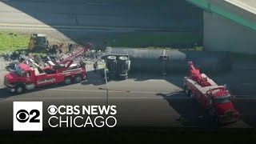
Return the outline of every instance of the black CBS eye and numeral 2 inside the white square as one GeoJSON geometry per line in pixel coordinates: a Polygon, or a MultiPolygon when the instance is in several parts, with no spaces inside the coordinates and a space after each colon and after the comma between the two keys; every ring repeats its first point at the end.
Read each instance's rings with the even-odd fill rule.
{"type": "Polygon", "coordinates": [[[40,119],[38,119],[39,115],[39,110],[31,110],[30,113],[28,113],[26,110],[18,110],[16,118],[18,122],[27,122],[29,119],[29,122],[40,122],[40,119]],[[30,118],[30,115],[32,118],[30,118]]]}

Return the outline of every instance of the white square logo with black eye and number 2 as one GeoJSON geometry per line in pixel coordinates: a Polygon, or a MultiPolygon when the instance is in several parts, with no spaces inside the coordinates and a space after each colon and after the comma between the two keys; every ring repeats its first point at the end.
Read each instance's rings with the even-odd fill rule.
{"type": "Polygon", "coordinates": [[[42,131],[42,102],[14,102],[14,131],[42,131]]]}

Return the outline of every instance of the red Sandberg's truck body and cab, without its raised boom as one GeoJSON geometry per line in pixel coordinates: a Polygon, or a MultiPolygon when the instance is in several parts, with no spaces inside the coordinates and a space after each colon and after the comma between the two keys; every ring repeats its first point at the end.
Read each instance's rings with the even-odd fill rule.
{"type": "Polygon", "coordinates": [[[15,66],[14,71],[5,75],[4,85],[11,92],[18,94],[23,90],[32,90],[38,86],[46,86],[52,83],[66,82],[70,84],[72,79],[74,82],[80,82],[86,77],[85,66],[72,64],[64,69],[58,69],[59,66],[48,67],[30,67],[24,63],[15,66]]]}

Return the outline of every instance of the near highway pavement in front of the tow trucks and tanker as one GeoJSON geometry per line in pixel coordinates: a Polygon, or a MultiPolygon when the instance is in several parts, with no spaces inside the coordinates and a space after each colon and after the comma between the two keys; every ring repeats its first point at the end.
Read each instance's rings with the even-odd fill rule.
{"type": "MultiPolygon", "coordinates": [[[[89,72],[86,81],[70,86],[47,86],[25,94],[12,95],[1,89],[0,128],[12,127],[12,102],[42,101],[44,109],[59,105],[106,105],[106,84],[99,74],[89,72]]],[[[151,77],[154,78],[154,77],[151,77]]],[[[154,79],[130,78],[109,82],[109,105],[117,106],[118,126],[174,126],[174,127],[254,127],[256,98],[236,95],[236,108],[241,114],[239,122],[216,125],[209,114],[192,102],[182,90],[182,76],[154,79]]],[[[46,111],[44,111],[45,115],[46,111]]],[[[48,114],[49,115],[49,114],[48,114]]],[[[44,117],[46,121],[48,116],[44,117]]],[[[47,127],[47,126],[46,126],[47,127]]]]}

